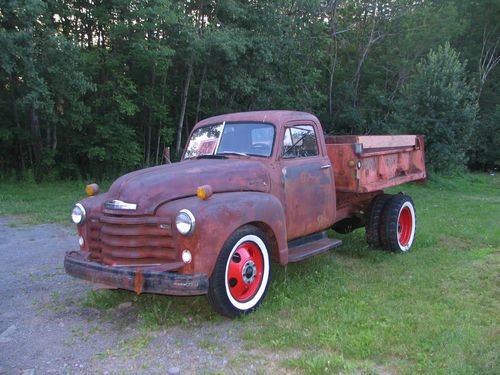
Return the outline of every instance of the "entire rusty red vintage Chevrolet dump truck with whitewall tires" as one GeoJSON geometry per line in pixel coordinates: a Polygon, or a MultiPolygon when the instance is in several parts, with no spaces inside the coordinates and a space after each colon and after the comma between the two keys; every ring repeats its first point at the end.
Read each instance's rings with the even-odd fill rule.
{"type": "Polygon", "coordinates": [[[426,178],[421,136],[324,136],[304,112],[226,114],[195,125],[180,162],[86,188],[71,213],[80,249],[68,274],[136,293],[206,294],[219,313],[255,310],[271,265],[341,245],[327,230],[366,228],[407,252],[416,215],[384,189],[426,178]]]}

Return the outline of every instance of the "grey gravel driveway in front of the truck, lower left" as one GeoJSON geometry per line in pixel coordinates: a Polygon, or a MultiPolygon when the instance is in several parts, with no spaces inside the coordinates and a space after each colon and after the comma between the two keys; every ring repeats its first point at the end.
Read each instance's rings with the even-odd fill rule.
{"type": "Polygon", "coordinates": [[[141,341],[145,333],[130,303],[112,311],[129,317],[125,324],[85,307],[95,287],[63,269],[65,251],[77,247],[72,228],[0,217],[0,374],[280,371],[277,354],[244,349],[238,335],[244,321],[168,327],[141,341]]]}

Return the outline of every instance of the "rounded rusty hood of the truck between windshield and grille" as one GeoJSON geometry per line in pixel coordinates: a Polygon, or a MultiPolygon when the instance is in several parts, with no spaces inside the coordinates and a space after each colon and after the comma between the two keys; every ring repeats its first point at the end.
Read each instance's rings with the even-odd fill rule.
{"type": "Polygon", "coordinates": [[[107,200],[137,204],[136,210],[112,210],[121,215],[153,214],[166,202],[196,195],[196,189],[201,185],[212,186],[214,193],[270,191],[269,175],[261,162],[200,159],[128,173],[111,185],[107,200]]]}

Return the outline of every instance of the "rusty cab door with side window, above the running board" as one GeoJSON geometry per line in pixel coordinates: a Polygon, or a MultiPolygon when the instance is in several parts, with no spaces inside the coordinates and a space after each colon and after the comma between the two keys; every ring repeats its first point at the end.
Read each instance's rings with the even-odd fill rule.
{"type": "Polygon", "coordinates": [[[324,152],[318,144],[315,125],[285,126],[280,162],[288,240],[326,229],[333,223],[333,168],[324,152]]]}

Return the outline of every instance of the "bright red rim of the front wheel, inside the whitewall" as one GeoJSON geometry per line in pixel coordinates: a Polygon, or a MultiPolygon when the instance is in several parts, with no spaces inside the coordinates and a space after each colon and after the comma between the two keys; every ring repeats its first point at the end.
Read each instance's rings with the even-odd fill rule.
{"type": "Polygon", "coordinates": [[[251,299],[262,282],[264,259],[259,247],[253,242],[244,242],[229,260],[227,285],[238,302],[251,299]]]}

